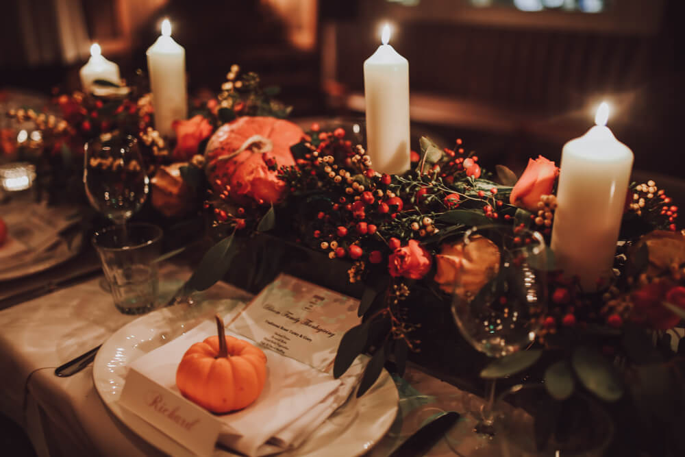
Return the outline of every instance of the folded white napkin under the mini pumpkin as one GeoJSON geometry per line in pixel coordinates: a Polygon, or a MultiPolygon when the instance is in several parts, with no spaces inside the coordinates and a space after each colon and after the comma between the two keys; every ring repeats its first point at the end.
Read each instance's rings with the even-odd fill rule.
{"type": "MultiPolygon", "coordinates": [[[[215,333],[216,324],[206,321],[139,358],[132,367],[181,395],[175,376],[183,354],[193,343],[215,333]]],[[[226,333],[250,341],[239,334],[226,333]]],[[[274,454],[301,444],[345,402],[365,365],[365,360],[358,359],[343,377],[336,380],[330,373],[270,349],[262,350],[267,359],[264,390],[244,410],[219,416],[223,422],[219,443],[247,456],[274,454]]]]}

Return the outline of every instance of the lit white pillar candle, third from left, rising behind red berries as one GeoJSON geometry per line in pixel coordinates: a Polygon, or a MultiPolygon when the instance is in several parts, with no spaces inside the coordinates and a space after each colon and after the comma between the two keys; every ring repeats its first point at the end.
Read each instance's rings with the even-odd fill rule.
{"type": "Polygon", "coordinates": [[[388,45],[390,27],[383,27],[383,44],[364,62],[366,151],[379,173],[409,169],[409,62],[388,45]]]}

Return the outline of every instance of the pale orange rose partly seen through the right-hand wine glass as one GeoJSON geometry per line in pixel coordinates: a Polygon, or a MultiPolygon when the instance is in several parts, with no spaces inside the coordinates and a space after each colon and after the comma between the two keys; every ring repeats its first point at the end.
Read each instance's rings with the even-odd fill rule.
{"type": "Polygon", "coordinates": [[[438,271],[433,280],[446,293],[475,295],[499,271],[499,249],[484,236],[471,236],[467,248],[464,241],[443,243],[435,262],[438,271]]]}

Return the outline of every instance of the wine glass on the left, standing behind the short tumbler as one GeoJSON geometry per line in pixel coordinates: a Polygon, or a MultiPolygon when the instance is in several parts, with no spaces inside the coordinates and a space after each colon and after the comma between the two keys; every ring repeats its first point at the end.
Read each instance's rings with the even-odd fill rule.
{"type": "Polygon", "coordinates": [[[102,134],[86,143],[85,152],[88,201],[125,237],[126,221],[140,210],[149,193],[138,142],[130,135],[102,134]]]}

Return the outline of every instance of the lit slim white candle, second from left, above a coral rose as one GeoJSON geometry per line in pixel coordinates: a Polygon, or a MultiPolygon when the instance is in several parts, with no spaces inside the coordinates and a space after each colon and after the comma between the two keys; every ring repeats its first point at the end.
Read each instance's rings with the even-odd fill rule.
{"type": "Polygon", "coordinates": [[[171,38],[169,19],[162,21],[162,35],[147,49],[155,128],[162,136],[173,136],[171,123],[188,117],[186,50],[171,38]]]}

